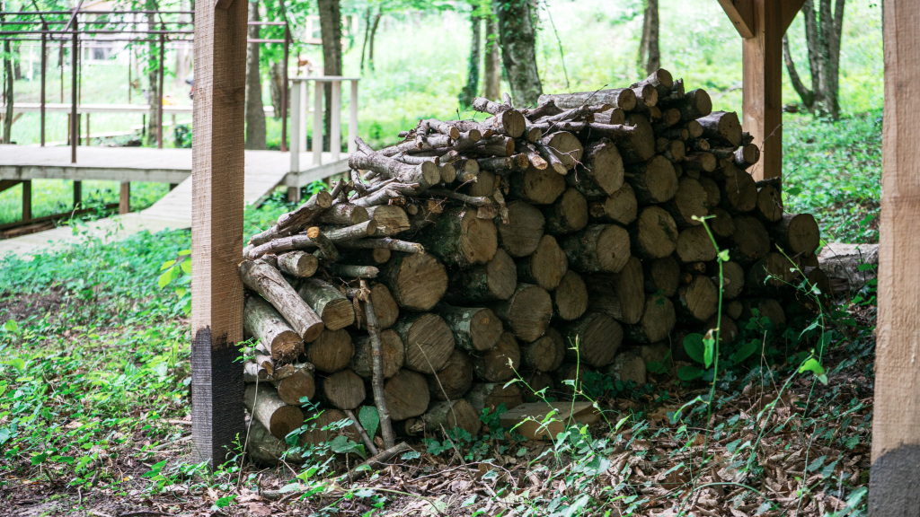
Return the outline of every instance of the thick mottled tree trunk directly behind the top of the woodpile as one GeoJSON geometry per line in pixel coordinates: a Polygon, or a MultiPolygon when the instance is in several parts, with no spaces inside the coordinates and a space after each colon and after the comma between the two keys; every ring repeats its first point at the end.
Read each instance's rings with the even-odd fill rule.
{"type": "Polygon", "coordinates": [[[495,0],[499,19],[501,61],[504,63],[512,98],[519,108],[534,106],[543,93],[536,69],[534,13],[527,0],[495,0]]]}

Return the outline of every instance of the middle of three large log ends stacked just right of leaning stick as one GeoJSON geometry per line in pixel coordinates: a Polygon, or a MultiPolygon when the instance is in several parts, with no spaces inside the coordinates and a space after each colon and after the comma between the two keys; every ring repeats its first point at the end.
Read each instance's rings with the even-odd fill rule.
{"type": "Polygon", "coordinates": [[[441,316],[431,313],[400,316],[393,328],[406,348],[406,368],[416,372],[441,370],[454,351],[454,334],[441,316]]]}

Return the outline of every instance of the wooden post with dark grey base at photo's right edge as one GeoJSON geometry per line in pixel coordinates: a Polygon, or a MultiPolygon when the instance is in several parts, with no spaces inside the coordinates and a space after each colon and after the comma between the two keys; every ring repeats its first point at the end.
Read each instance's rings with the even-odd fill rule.
{"type": "Polygon", "coordinates": [[[870,517],[920,516],[920,10],[885,0],[879,321],[870,517]]]}

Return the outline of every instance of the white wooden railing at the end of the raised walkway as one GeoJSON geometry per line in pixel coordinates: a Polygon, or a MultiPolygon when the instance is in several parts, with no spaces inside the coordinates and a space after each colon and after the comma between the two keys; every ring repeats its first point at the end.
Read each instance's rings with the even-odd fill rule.
{"type": "Polygon", "coordinates": [[[354,152],[354,139],[358,136],[358,81],[359,77],[339,75],[315,75],[292,77],[291,81],[291,172],[300,172],[300,151],[306,150],[306,120],[308,113],[307,84],[313,82],[313,165],[323,165],[323,86],[330,83],[332,95],[326,107],[329,113],[329,157],[331,162],[339,161],[341,155],[341,95],[342,82],[351,81],[349,98],[348,152],[354,152]]]}

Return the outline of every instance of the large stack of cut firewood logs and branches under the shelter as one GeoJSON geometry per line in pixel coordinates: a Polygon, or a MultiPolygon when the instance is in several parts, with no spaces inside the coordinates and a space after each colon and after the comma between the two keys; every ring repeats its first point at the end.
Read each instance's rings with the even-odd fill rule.
{"type": "Polygon", "coordinates": [[[730,253],[724,339],[755,310],[813,310],[799,271],[826,290],[814,218],[755,183],[758,148],[705,90],[659,70],[473,107],[478,120],[420,121],[379,151],[358,142],[350,178],[250,240],[247,408],[270,434],[302,424],[303,397],[328,420],[384,403],[397,433],[476,434],[483,408],[522,402],[517,376],[644,383],[646,362],[716,326],[703,216],[730,253]]]}

